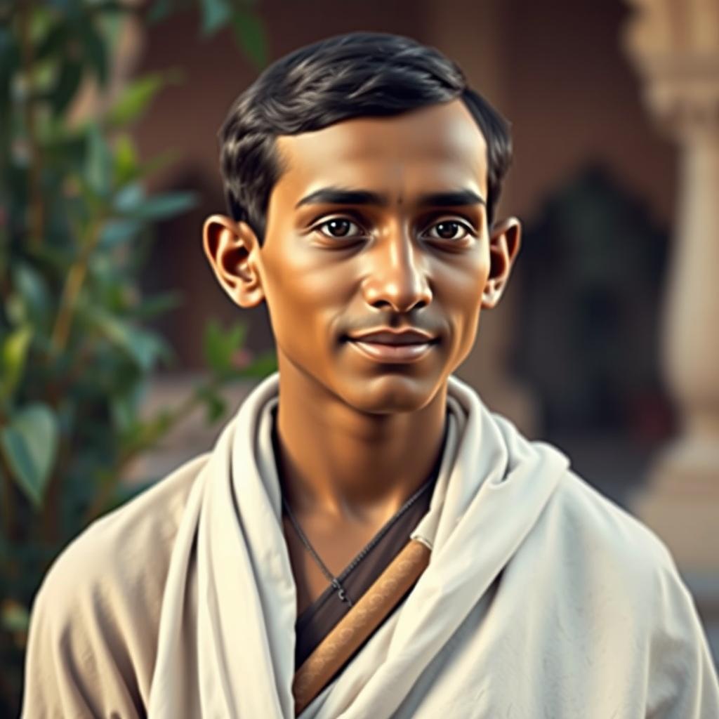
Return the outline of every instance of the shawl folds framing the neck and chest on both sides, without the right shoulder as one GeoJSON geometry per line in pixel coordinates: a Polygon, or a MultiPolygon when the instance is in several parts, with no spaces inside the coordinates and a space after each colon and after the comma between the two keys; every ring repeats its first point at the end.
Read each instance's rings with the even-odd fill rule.
{"type": "MultiPolygon", "coordinates": [[[[270,444],[277,402],[273,375],[244,401],[193,487],[162,604],[151,716],[183,716],[170,690],[178,677],[198,682],[203,716],[293,716],[296,590],[270,444]],[[187,581],[193,564],[196,587],[187,581]],[[184,611],[184,597],[192,591],[195,626],[184,611]],[[193,675],[194,662],[191,672],[183,665],[184,638],[194,632],[193,675]]],[[[447,421],[430,510],[411,535],[433,548],[429,567],[393,620],[380,628],[386,644],[375,641],[364,649],[307,716],[393,711],[390,700],[399,705],[441,651],[531,531],[567,470],[562,454],[520,441],[455,377],[449,381],[447,421]],[[513,511],[502,510],[512,505],[513,511]]]]}

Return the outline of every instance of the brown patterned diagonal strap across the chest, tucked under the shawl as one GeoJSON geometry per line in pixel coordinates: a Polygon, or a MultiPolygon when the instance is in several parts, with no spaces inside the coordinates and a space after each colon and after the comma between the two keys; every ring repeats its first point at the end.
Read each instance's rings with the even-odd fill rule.
{"type": "Polygon", "coordinates": [[[429,547],[421,541],[408,541],[377,581],[316,646],[293,680],[295,716],[319,695],[414,586],[429,564],[430,554],[429,547]]]}

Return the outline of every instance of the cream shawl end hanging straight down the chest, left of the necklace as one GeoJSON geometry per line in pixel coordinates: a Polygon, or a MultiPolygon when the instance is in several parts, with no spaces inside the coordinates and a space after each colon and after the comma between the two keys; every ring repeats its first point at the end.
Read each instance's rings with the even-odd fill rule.
{"type": "Polygon", "coordinates": [[[265,380],[247,398],[193,487],[199,506],[183,516],[170,561],[150,716],[186,716],[171,688],[178,677],[196,682],[203,717],[293,716],[296,590],[270,461],[276,385],[265,380]],[[185,577],[195,563],[193,586],[185,577]],[[178,602],[193,591],[196,618],[178,602]],[[197,674],[185,666],[193,633],[197,674]]]}

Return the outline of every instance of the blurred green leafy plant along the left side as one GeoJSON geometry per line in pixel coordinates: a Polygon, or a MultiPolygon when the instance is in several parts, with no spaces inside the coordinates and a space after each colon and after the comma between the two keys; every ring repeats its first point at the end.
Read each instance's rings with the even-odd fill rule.
{"type": "MultiPolygon", "coordinates": [[[[183,6],[188,6],[187,3],[183,6]]],[[[173,9],[115,0],[0,0],[0,715],[17,715],[32,597],[63,546],[129,497],[127,463],[196,408],[224,414],[227,383],[275,369],[272,354],[237,365],[244,326],[209,324],[209,372],[178,406],[142,416],[151,373],[173,359],[150,322],[178,304],[145,297],[139,273],[152,227],[196,198],[148,196],[170,157],[143,160],[129,128],[177,72],[137,78],[99,116],[72,121],[91,78],[106,87],[128,13],[173,9]]],[[[201,3],[203,31],[232,24],[264,61],[247,6],[201,3]]]]}

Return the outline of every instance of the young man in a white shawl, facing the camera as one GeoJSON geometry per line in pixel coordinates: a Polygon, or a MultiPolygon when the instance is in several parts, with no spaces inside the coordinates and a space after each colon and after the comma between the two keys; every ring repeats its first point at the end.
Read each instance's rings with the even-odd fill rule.
{"type": "Polygon", "coordinates": [[[206,255],[267,303],[279,372],[58,559],[24,716],[719,716],[664,546],[452,376],[520,242],[507,126],[459,68],[336,37],[220,138],[206,255]]]}

